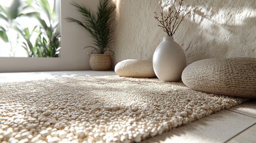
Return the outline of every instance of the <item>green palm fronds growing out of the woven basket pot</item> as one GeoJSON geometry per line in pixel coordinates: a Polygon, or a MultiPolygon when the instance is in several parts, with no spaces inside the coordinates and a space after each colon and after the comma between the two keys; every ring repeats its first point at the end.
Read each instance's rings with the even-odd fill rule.
{"type": "Polygon", "coordinates": [[[113,41],[110,38],[110,34],[113,32],[111,22],[112,14],[116,7],[109,3],[109,0],[100,0],[97,13],[94,14],[89,8],[73,1],[70,4],[76,7],[78,12],[81,13],[83,16],[82,21],[71,17],[66,18],[67,21],[79,24],[90,33],[90,36],[94,39],[94,45],[97,46],[97,50],[95,51],[98,54],[104,54],[104,52],[110,51],[108,48],[113,41]]]}

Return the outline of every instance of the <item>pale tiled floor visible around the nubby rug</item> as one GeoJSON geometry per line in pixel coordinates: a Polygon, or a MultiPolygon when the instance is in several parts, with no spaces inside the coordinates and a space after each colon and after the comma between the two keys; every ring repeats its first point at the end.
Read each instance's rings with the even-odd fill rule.
{"type": "MultiPolygon", "coordinates": [[[[114,71],[51,71],[0,73],[1,82],[53,79],[72,76],[116,75],[114,71]]],[[[147,139],[143,143],[163,142],[255,142],[256,100],[223,110],[186,126],[147,139]]]]}

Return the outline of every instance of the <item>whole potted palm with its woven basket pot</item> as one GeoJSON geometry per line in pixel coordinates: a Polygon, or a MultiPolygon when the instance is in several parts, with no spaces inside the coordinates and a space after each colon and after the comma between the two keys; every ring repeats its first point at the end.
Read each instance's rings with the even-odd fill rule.
{"type": "Polygon", "coordinates": [[[113,32],[113,12],[116,6],[110,4],[110,0],[100,0],[98,10],[93,12],[90,8],[78,4],[77,2],[73,1],[70,4],[77,8],[83,20],[67,17],[67,21],[75,22],[84,27],[94,39],[94,46],[85,46],[85,48],[92,48],[89,61],[91,69],[109,70],[112,65],[112,60],[110,54],[105,54],[105,52],[109,51],[114,54],[109,47],[110,43],[113,41],[110,34],[113,32]],[[94,54],[95,52],[96,54],[94,54]]]}

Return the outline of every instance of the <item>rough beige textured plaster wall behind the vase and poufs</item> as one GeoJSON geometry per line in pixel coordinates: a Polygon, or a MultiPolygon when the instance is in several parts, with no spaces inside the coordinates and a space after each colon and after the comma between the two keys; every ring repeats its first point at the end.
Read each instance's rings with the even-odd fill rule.
{"type": "MultiPolygon", "coordinates": [[[[173,0],[116,0],[115,64],[136,58],[152,60],[165,33],[155,20],[163,2],[173,0]]],[[[174,40],[181,45],[187,64],[205,58],[256,57],[256,1],[184,0],[191,13],[174,40]]]]}

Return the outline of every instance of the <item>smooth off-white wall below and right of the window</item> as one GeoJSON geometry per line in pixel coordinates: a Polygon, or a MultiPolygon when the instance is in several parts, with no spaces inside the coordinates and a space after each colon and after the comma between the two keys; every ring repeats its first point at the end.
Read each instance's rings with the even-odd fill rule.
{"type": "MultiPolygon", "coordinates": [[[[91,45],[92,39],[85,29],[76,23],[67,23],[64,18],[80,18],[79,13],[69,3],[61,0],[61,57],[60,58],[0,58],[0,72],[14,71],[54,71],[54,70],[89,70],[89,57],[83,51],[84,46],[91,45]]],[[[76,0],[93,10],[98,1],[76,0]]],[[[90,49],[88,49],[90,52],[90,49]]]]}

